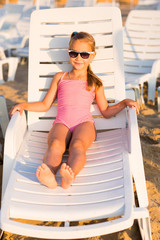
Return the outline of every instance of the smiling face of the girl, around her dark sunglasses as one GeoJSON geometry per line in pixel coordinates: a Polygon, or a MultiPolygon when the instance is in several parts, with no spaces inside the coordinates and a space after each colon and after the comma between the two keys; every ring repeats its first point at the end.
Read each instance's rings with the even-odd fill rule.
{"type": "MultiPolygon", "coordinates": [[[[82,40],[78,39],[74,41],[70,46],[70,50],[74,50],[77,52],[92,52],[91,46],[88,44],[87,41],[83,39],[82,40]]],[[[75,58],[70,57],[70,63],[72,64],[74,69],[77,69],[77,70],[87,69],[88,65],[94,59],[94,57],[95,57],[95,52],[90,54],[89,58],[87,59],[82,58],[80,54],[78,54],[78,56],[75,58]]]]}

